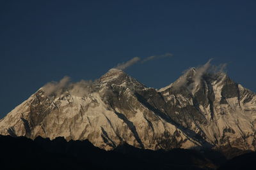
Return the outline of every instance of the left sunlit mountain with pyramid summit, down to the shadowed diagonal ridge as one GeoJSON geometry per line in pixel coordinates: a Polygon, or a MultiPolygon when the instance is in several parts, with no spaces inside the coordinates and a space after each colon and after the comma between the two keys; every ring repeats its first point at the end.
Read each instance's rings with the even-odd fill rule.
{"type": "Polygon", "coordinates": [[[38,90],[1,120],[1,134],[88,139],[106,150],[124,142],[153,150],[195,145],[136,95],[154,89],[117,69],[104,74],[96,86],[97,92],[83,97],[68,90],[60,96],[47,96],[44,88],[38,90]]]}

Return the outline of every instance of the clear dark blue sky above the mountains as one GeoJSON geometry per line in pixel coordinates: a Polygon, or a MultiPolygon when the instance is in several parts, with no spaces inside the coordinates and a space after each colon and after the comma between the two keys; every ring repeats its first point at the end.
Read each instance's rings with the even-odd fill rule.
{"type": "Polygon", "coordinates": [[[227,63],[256,91],[256,1],[0,2],[0,117],[45,83],[95,80],[132,57],[173,53],[126,72],[164,87],[188,67],[227,63]]]}

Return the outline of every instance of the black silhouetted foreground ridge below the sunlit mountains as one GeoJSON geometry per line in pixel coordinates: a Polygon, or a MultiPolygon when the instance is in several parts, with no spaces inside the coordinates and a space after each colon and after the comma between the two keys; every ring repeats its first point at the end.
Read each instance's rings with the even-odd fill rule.
{"type": "Polygon", "coordinates": [[[105,151],[89,141],[0,136],[1,169],[216,169],[226,161],[212,150],[152,151],[124,144],[105,151]]]}

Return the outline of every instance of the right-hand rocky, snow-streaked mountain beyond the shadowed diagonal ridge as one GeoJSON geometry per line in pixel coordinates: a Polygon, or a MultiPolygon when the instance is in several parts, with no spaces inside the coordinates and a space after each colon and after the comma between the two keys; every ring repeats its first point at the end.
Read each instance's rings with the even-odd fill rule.
{"type": "Polygon", "coordinates": [[[180,78],[159,90],[168,103],[168,115],[212,146],[255,150],[255,94],[224,73],[204,74],[198,83],[195,69],[188,72],[184,87],[175,87],[184,79],[180,78]]]}

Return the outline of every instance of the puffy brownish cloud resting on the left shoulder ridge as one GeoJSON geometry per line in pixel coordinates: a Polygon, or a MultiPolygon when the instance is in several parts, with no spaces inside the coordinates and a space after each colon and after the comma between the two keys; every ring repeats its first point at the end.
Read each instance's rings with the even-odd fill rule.
{"type": "Polygon", "coordinates": [[[63,92],[68,91],[74,96],[88,96],[92,92],[96,92],[97,88],[92,80],[81,80],[78,82],[70,82],[70,77],[64,76],[60,81],[51,81],[44,85],[44,92],[47,96],[60,96],[63,92]]]}

